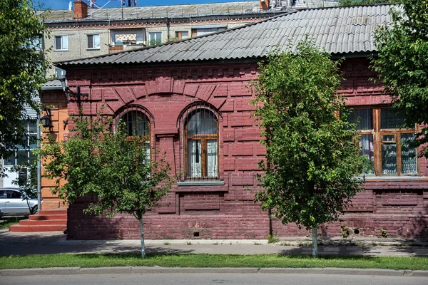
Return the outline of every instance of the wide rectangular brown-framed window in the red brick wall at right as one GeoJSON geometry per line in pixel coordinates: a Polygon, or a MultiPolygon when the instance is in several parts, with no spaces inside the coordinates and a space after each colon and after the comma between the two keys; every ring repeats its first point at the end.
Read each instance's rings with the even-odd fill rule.
{"type": "Polygon", "coordinates": [[[357,123],[364,174],[417,174],[417,149],[409,145],[416,130],[401,128],[403,118],[394,108],[355,109],[349,119],[357,123]]]}

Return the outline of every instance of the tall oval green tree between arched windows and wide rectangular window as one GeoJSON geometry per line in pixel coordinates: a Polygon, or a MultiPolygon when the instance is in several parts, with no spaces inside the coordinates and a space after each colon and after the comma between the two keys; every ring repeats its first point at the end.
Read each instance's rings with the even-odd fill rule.
{"type": "Polygon", "coordinates": [[[267,150],[256,201],[283,224],[312,229],[314,256],[317,229],[339,219],[361,183],[355,125],[336,93],[339,64],[303,41],[293,53],[270,54],[253,86],[267,150]]]}

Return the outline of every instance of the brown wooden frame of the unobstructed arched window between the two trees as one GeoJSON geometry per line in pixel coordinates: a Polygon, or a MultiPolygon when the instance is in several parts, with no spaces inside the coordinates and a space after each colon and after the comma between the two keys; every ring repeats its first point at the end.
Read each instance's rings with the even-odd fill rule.
{"type": "Polygon", "coordinates": [[[185,180],[219,180],[219,170],[220,170],[220,142],[219,142],[219,128],[218,128],[218,117],[213,112],[213,110],[210,110],[209,108],[205,108],[203,105],[193,108],[192,110],[189,110],[188,114],[186,115],[184,119],[184,169],[185,169],[185,180]],[[188,135],[188,121],[190,118],[195,115],[195,113],[198,110],[208,111],[212,113],[213,118],[215,120],[216,130],[217,132],[215,134],[198,134],[198,135],[188,135]],[[200,140],[200,164],[201,164],[201,176],[195,177],[189,175],[188,170],[188,141],[189,140],[200,140]],[[217,175],[214,176],[208,176],[208,167],[207,167],[207,160],[208,160],[208,154],[207,154],[207,141],[208,140],[216,140],[217,141],[217,175]]]}

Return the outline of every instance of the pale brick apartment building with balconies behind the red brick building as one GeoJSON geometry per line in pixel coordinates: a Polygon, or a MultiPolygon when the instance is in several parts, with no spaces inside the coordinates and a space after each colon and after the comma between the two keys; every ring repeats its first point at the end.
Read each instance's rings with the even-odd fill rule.
{"type": "MultiPolygon", "coordinates": [[[[337,0],[269,0],[91,9],[74,1],[70,10],[46,17],[44,47],[52,62],[131,51],[168,41],[215,33],[292,9],[336,6],[337,0]]],[[[56,68],[50,71],[62,73],[56,68]]]]}

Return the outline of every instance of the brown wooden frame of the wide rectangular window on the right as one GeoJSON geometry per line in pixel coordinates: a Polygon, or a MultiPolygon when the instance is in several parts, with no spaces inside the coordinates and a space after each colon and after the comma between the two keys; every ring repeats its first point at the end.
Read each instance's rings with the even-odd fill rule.
{"type": "Polygon", "coordinates": [[[415,128],[381,128],[381,111],[387,109],[387,106],[361,106],[353,108],[358,109],[372,109],[373,112],[373,129],[372,130],[357,130],[358,135],[373,135],[373,149],[374,149],[374,174],[365,174],[367,176],[417,176],[420,173],[419,161],[416,157],[417,173],[402,173],[402,145],[401,135],[406,133],[417,133],[419,127],[415,125],[415,128]],[[383,140],[385,135],[393,135],[393,141],[383,140]],[[382,171],[382,145],[396,145],[397,155],[397,173],[395,174],[384,174],[382,171]]]}

